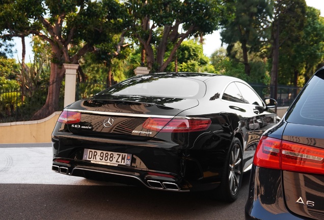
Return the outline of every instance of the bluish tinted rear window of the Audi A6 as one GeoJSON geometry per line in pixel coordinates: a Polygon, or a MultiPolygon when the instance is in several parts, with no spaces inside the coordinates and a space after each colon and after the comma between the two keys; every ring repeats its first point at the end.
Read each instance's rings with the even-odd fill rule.
{"type": "Polygon", "coordinates": [[[291,106],[286,120],[290,123],[324,126],[324,79],[317,74],[291,106]]]}

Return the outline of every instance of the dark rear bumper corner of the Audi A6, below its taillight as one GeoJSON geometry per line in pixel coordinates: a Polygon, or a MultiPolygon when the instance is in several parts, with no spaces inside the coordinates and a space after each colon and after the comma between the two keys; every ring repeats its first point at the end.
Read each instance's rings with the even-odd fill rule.
{"type": "Polygon", "coordinates": [[[302,219],[285,206],[280,170],[252,167],[245,219],[302,219]]]}

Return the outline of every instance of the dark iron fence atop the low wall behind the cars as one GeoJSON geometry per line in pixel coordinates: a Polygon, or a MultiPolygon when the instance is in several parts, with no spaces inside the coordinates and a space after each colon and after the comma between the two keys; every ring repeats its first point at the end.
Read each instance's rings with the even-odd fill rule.
{"type": "MultiPolygon", "coordinates": [[[[271,97],[271,88],[266,85],[250,84],[263,99],[271,97]]],[[[33,115],[45,104],[47,88],[42,87],[33,93],[19,90],[0,90],[0,123],[30,121],[33,115]]],[[[75,100],[87,98],[104,90],[106,84],[93,82],[79,82],[76,85],[75,100]]],[[[301,88],[278,86],[278,106],[289,106],[301,88]]],[[[64,85],[60,93],[60,109],[63,109],[64,85]]]]}

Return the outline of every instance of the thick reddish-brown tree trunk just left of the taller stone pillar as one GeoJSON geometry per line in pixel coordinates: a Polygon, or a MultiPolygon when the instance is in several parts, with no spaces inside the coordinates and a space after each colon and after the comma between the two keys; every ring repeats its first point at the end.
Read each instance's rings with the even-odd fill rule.
{"type": "MultiPolygon", "coordinates": [[[[63,65],[57,63],[50,64],[49,86],[46,102],[32,117],[32,120],[38,120],[49,116],[50,114],[61,111],[59,106],[60,89],[65,73],[63,65]]],[[[63,106],[65,107],[65,106],[63,106]]]]}

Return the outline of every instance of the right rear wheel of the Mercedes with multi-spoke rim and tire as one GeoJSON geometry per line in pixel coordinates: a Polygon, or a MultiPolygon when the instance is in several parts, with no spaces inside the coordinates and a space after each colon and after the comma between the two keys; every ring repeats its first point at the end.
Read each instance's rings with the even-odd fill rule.
{"type": "Polygon", "coordinates": [[[239,193],[243,174],[243,152],[241,142],[234,137],[222,173],[220,186],[216,189],[222,201],[234,202],[239,193]]]}

